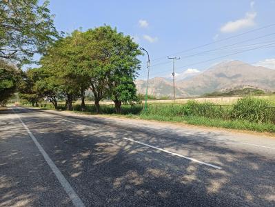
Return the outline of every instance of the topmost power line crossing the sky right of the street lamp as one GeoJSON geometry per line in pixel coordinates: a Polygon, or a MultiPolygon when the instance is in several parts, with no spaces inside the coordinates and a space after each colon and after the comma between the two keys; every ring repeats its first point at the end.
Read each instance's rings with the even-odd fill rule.
{"type": "MultiPolygon", "coordinates": [[[[221,41],[225,41],[225,40],[227,40],[227,39],[232,39],[232,38],[234,38],[234,37],[240,37],[240,36],[242,36],[242,35],[244,35],[244,34],[249,34],[249,33],[252,33],[252,32],[256,32],[256,31],[258,31],[258,30],[263,30],[263,29],[265,29],[265,28],[270,28],[270,27],[272,27],[272,26],[275,26],[275,23],[272,23],[272,24],[269,24],[269,25],[267,25],[267,26],[263,26],[263,27],[261,27],[261,28],[257,28],[257,29],[254,29],[254,30],[249,30],[249,31],[243,32],[243,33],[241,33],[241,34],[236,34],[236,35],[233,35],[233,36],[230,36],[230,37],[226,37],[226,38],[224,38],[224,39],[219,39],[219,40],[217,40],[217,41],[212,41],[211,43],[205,43],[205,44],[203,44],[203,45],[201,45],[201,46],[196,46],[196,47],[194,47],[194,48],[189,48],[189,49],[187,49],[187,50],[183,50],[183,51],[180,51],[180,52],[176,52],[176,53],[170,54],[170,55],[179,55],[179,54],[181,54],[181,53],[183,53],[183,52],[188,52],[188,51],[190,51],[190,50],[195,50],[195,49],[198,49],[198,48],[203,48],[203,47],[205,47],[205,46],[210,46],[210,45],[212,45],[212,44],[214,44],[214,43],[218,43],[218,42],[221,42],[221,41]]],[[[166,57],[167,57],[167,55],[166,55],[165,57],[157,57],[157,58],[155,58],[155,59],[152,59],[152,61],[155,61],[155,60],[158,60],[158,59],[164,59],[164,58],[166,58],[166,57]]]]}

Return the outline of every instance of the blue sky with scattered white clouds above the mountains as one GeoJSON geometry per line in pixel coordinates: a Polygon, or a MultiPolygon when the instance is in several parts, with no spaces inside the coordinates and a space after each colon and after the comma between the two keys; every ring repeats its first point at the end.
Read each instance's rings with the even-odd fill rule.
{"type": "MultiPolygon", "coordinates": [[[[130,35],[150,54],[150,78],[171,77],[169,55],[181,58],[176,77],[230,60],[275,69],[275,0],[51,0],[49,7],[60,31],[108,24],[130,35]]],[[[147,56],[139,59],[145,79],[147,56]]]]}

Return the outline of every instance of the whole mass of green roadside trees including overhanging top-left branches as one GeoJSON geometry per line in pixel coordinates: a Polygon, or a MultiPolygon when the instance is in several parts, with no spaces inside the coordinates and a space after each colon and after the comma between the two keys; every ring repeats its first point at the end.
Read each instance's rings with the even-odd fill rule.
{"type": "MultiPolygon", "coordinates": [[[[7,1],[5,8],[14,8],[14,5],[9,5],[8,2],[14,3],[7,1]]],[[[46,99],[57,108],[58,101],[65,100],[68,110],[72,110],[74,101],[81,99],[81,108],[85,110],[85,91],[90,90],[94,95],[97,112],[100,112],[99,101],[102,99],[114,101],[116,112],[121,111],[122,103],[133,104],[139,101],[134,80],[141,68],[138,57],[142,52],[130,36],[104,25],[85,32],[75,30],[64,37],[55,30],[46,3],[41,7],[37,6],[37,1],[34,0],[19,0],[17,3],[21,3],[21,6],[16,4],[19,5],[18,10],[22,9],[22,5],[30,6],[32,18],[35,15],[37,18],[41,17],[41,11],[47,15],[43,16],[43,25],[39,25],[40,29],[43,28],[41,34],[29,31],[30,34],[24,37],[28,40],[32,36],[35,41],[26,41],[26,46],[22,46],[22,40],[15,43],[14,40],[7,40],[6,48],[2,47],[5,50],[0,52],[5,55],[1,57],[1,99],[8,99],[17,90],[21,98],[32,104],[46,99]],[[41,39],[41,35],[45,35],[45,38],[41,39]],[[14,46],[14,54],[8,51],[11,48],[9,43],[14,46]],[[32,61],[35,52],[41,54],[40,67],[19,70],[23,63],[32,61]],[[14,62],[17,65],[14,65],[14,62]],[[10,89],[2,86],[8,77],[3,74],[11,75],[10,89]]],[[[26,18],[24,22],[29,21],[30,19],[26,18]]],[[[37,25],[30,21],[30,28],[35,30],[37,25]]],[[[26,33],[26,28],[20,27],[18,30],[20,29],[23,34],[26,33]]]]}

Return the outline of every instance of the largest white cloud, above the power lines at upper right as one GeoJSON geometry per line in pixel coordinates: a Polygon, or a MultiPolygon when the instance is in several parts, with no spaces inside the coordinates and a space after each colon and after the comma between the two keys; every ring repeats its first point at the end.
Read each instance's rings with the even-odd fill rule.
{"type": "Polygon", "coordinates": [[[236,32],[243,28],[253,27],[255,25],[254,19],[256,15],[256,12],[247,12],[243,19],[237,19],[236,21],[229,21],[225,23],[225,25],[221,27],[221,32],[230,33],[236,32]]]}

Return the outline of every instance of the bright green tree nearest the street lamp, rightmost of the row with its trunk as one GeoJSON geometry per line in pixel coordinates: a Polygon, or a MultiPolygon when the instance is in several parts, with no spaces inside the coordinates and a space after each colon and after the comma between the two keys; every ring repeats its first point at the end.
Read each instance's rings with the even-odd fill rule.
{"type": "Polygon", "coordinates": [[[120,113],[121,103],[132,104],[139,101],[134,80],[141,68],[137,57],[142,53],[139,45],[134,43],[130,36],[123,36],[122,33],[114,33],[114,36],[114,54],[107,75],[107,92],[114,101],[116,112],[120,113]]]}

